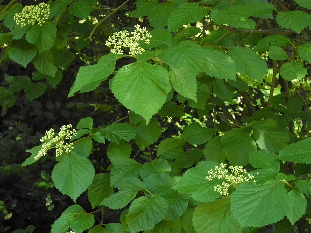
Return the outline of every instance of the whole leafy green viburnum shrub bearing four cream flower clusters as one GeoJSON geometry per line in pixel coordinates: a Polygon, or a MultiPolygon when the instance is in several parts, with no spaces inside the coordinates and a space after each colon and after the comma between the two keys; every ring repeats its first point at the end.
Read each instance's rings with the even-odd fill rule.
{"type": "Polygon", "coordinates": [[[27,150],[22,166],[56,148],[55,187],[74,202],[87,190],[94,209],[69,206],[51,233],[310,228],[309,1],[137,0],[122,13],[132,22],[126,29],[118,28],[122,17],[107,19],[131,9],[129,1],[114,9],[84,0],[40,4],[16,3],[0,15],[9,30],[0,34],[1,59],[32,62],[39,72],[8,79],[1,107],[14,106],[21,90],[32,101],[55,87],[66,68],[59,56],[77,48],[68,57],[84,65],[68,97],[100,96],[106,84],[127,109],[109,125],[84,117],[69,130],[67,122],[27,150]],[[67,44],[74,16],[76,28],[88,21],[94,30],[81,27],[91,34],[67,44]],[[100,50],[94,60],[78,49],[87,38],[100,50]],[[108,144],[101,153],[110,166],[97,174],[94,144],[108,144]],[[106,208],[122,210],[119,222],[104,222],[106,208]]]}

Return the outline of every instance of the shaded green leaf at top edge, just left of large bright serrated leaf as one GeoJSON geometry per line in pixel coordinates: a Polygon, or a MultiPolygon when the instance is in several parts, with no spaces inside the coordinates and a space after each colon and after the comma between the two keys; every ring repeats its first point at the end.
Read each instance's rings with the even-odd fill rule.
{"type": "MultiPolygon", "coordinates": [[[[148,20],[154,29],[162,29],[167,25],[167,20],[173,10],[177,9],[177,4],[174,1],[161,2],[154,7],[148,20]]],[[[153,39],[153,38],[152,38],[153,39]]]]}

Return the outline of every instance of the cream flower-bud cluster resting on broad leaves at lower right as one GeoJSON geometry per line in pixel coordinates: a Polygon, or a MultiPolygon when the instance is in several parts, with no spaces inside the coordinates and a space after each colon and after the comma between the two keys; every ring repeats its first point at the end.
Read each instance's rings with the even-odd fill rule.
{"type": "MultiPolygon", "coordinates": [[[[219,192],[220,195],[228,196],[228,188],[232,185],[234,188],[237,188],[237,185],[244,182],[249,181],[251,179],[254,179],[254,176],[251,176],[248,174],[247,176],[240,175],[240,173],[246,173],[246,170],[243,169],[241,166],[229,166],[229,169],[231,170],[231,173],[229,173],[228,169],[225,168],[224,163],[220,163],[220,166],[215,166],[215,169],[211,169],[207,173],[209,176],[206,176],[205,178],[207,180],[212,180],[213,178],[218,179],[225,179],[227,182],[222,182],[220,185],[214,186],[214,190],[219,192]]],[[[256,183],[256,181],[254,180],[256,183]]]]}

